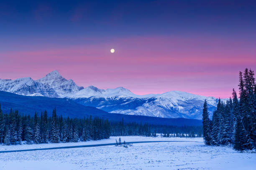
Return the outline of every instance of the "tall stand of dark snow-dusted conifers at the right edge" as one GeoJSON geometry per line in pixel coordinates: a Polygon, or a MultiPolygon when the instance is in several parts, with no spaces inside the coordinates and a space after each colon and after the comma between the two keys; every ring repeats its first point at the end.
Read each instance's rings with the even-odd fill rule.
{"type": "Polygon", "coordinates": [[[218,101],[212,119],[207,101],[203,105],[203,137],[206,145],[233,145],[236,150],[256,148],[256,84],[254,72],[247,68],[239,72],[239,96],[218,101]]]}

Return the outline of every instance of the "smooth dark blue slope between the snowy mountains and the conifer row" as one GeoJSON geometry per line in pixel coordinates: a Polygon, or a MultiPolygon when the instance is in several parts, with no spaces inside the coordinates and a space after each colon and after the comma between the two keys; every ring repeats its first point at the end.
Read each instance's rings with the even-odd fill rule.
{"type": "Polygon", "coordinates": [[[125,122],[148,122],[158,125],[202,125],[201,120],[108,113],[95,107],[80,105],[66,98],[23,96],[4,91],[0,91],[0,104],[3,112],[10,112],[10,108],[12,108],[29,115],[34,115],[35,112],[43,112],[44,110],[51,115],[52,110],[56,107],[57,114],[63,117],[81,118],[92,115],[93,117],[104,117],[111,121],[121,121],[123,118],[125,122]]]}

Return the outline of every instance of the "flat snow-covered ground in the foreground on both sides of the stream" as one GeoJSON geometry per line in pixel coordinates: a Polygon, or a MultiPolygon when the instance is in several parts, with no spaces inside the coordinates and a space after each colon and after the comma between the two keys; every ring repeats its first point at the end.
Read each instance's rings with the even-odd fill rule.
{"type": "MultiPolygon", "coordinates": [[[[0,146],[0,150],[51,148],[114,143],[119,137],[80,143],[0,146]]],[[[121,137],[137,143],[128,148],[100,146],[56,150],[0,153],[0,170],[255,170],[256,154],[239,153],[229,147],[205,146],[202,138],[121,137]],[[179,142],[179,141],[187,142],[179,142]],[[195,142],[191,142],[195,141],[195,142]]]]}

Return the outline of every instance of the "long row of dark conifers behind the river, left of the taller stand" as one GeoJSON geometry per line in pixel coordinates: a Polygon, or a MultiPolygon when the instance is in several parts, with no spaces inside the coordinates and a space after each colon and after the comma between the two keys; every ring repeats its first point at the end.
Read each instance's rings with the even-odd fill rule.
{"type": "Polygon", "coordinates": [[[33,143],[66,143],[101,140],[112,136],[143,135],[156,137],[200,137],[202,127],[152,125],[148,123],[110,122],[100,117],[69,118],[56,115],[56,108],[49,116],[46,111],[34,116],[20,114],[10,109],[3,113],[0,105],[0,144],[16,145],[33,143]]]}

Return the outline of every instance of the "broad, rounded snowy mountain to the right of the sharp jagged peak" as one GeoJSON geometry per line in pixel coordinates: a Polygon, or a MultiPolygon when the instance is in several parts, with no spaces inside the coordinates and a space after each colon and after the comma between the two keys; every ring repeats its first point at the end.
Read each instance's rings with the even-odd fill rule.
{"type": "Polygon", "coordinates": [[[68,96],[78,103],[97,107],[110,113],[145,115],[167,118],[202,118],[202,105],[206,99],[212,115],[218,99],[171,91],[163,94],[136,95],[123,87],[98,89],[89,86],[68,96]]]}

